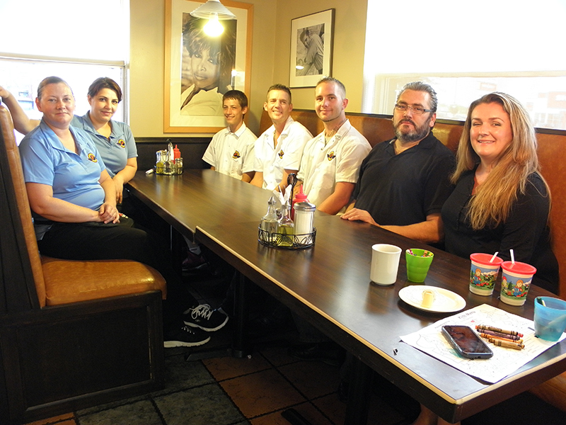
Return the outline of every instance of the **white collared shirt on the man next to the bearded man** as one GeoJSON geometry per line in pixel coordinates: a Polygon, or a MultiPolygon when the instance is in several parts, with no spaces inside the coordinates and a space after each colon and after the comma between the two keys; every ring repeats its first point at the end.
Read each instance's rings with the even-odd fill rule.
{"type": "Polygon", "coordinates": [[[366,138],[346,120],[325,145],[324,131],[310,140],[304,149],[297,177],[314,205],[320,205],[334,193],[336,183],[357,183],[359,166],[371,150],[366,138]]]}

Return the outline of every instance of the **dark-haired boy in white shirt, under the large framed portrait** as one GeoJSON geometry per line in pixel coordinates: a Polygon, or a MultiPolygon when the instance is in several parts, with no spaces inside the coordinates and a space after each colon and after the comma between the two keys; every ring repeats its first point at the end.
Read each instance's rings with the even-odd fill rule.
{"type": "Polygon", "coordinates": [[[253,179],[255,137],[243,122],[248,96],[239,90],[226,91],[222,98],[228,127],[217,132],[202,156],[210,168],[249,183],[253,179]]]}

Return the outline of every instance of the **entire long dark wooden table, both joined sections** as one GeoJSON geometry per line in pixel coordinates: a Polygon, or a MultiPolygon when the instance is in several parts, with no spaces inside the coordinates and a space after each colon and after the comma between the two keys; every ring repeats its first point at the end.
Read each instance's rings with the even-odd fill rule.
{"type": "MultiPolygon", "coordinates": [[[[492,385],[401,343],[400,335],[454,313],[422,312],[400,300],[399,290],[408,285],[404,256],[395,285],[372,284],[371,245],[395,244],[403,250],[428,246],[366,223],[321,214],[315,219],[316,244],[312,248],[263,246],[257,242],[258,224],[269,193],[211,173],[190,171],[178,180],[137,176],[131,186],[172,225],[181,231],[196,231],[200,243],[447,421],[464,419],[566,370],[566,341],[492,385]],[[240,197],[248,202],[242,205],[240,197]]],[[[550,295],[532,286],[523,307],[499,302],[497,295],[474,295],[468,290],[469,260],[439,249],[432,251],[434,261],[425,283],[458,293],[466,300],[466,309],[487,303],[532,319],[534,297],[550,295]]],[[[498,290],[495,288],[495,294],[498,290]]],[[[364,368],[359,372],[363,377],[364,368]]],[[[363,398],[364,389],[362,382],[350,399],[363,398]]],[[[346,423],[363,422],[364,405],[355,401],[349,403],[346,423]]]]}

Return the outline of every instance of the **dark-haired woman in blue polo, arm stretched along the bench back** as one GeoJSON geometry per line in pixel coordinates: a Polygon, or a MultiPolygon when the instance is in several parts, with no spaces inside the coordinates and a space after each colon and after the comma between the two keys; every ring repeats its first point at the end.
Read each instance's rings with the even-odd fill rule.
{"type": "MultiPolygon", "coordinates": [[[[40,124],[40,120],[30,120],[18,101],[1,87],[0,96],[8,106],[18,132],[27,135],[40,124]]],[[[85,130],[95,142],[114,181],[117,203],[122,203],[124,185],[134,178],[137,171],[137,148],[132,130],[126,123],[112,120],[120,101],[122,90],[116,81],[100,77],[88,88],[91,110],[82,116],[75,115],[71,120],[73,127],[85,130]]]]}

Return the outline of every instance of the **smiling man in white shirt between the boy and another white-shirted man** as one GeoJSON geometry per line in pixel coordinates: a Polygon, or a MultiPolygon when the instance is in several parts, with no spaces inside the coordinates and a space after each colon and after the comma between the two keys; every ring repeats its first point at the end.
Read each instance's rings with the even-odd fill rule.
{"type": "Polygon", "coordinates": [[[299,171],[303,149],[311,133],[291,118],[291,90],[275,84],[267,91],[263,108],[273,125],[255,141],[255,176],[251,183],[260,188],[280,191],[287,187],[287,176],[299,171]]]}

